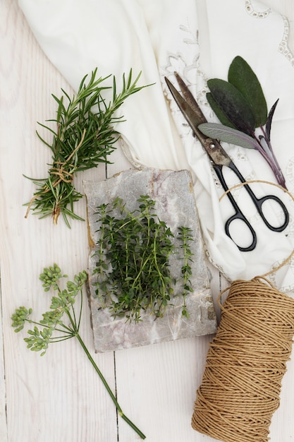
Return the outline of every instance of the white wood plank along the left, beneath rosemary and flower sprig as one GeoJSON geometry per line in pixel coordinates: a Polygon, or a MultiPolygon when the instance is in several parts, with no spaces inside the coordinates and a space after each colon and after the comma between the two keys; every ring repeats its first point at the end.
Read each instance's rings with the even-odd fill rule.
{"type": "MultiPolygon", "coordinates": [[[[78,343],[52,345],[40,358],[25,348],[22,333],[16,335],[11,328],[16,307],[32,306],[37,318],[49,308],[50,298],[38,280],[42,268],[56,261],[73,276],[87,268],[88,248],[84,222],[73,222],[68,229],[62,220],[56,227],[51,219],[24,218],[23,203],[35,186],[23,173],[44,177],[50,160],[49,150],[35,135],[36,121],[54,118],[51,92],[60,95],[61,87],[70,88],[42,53],[17,2],[1,6],[0,253],[8,440],[114,442],[115,407],[78,343]]],[[[104,179],[105,169],[81,174],[76,181],[80,190],[82,177],[104,179]]],[[[77,210],[85,215],[84,201],[77,210]]],[[[89,315],[85,300],[81,334],[94,354],[89,315]]],[[[94,359],[115,390],[114,355],[94,359]]]]}

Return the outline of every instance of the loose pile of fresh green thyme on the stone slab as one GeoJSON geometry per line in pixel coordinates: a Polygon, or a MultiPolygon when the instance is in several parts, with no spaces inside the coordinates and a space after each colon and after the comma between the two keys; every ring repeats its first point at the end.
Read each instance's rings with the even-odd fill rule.
{"type": "Polygon", "coordinates": [[[121,198],[97,208],[99,240],[94,256],[97,258],[96,294],[102,308],[108,307],[114,317],[126,321],[141,321],[142,311],[156,318],[164,316],[176,286],[171,275],[171,254],[183,260],[183,316],[188,317],[185,297],[192,292],[190,275],[192,234],[180,227],[176,246],[170,227],[154,214],[155,201],[148,195],[137,199],[139,208],[129,212],[121,198]],[[121,217],[114,216],[118,209],[121,217]]]}

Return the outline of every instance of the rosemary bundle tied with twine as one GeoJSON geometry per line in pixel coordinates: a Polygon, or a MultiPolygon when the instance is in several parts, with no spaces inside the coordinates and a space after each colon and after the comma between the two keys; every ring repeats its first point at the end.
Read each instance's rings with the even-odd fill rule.
{"type": "MultiPolygon", "coordinates": [[[[27,203],[27,217],[30,210],[40,218],[51,215],[54,224],[57,224],[62,214],[66,225],[70,227],[68,217],[82,220],[73,210],[75,201],[82,198],[82,194],[75,190],[73,177],[77,172],[97,167],[99,163],[108,163],[107,157],[115,150],[114,143],[119,138],[114,124],[123,121],[123,117],[116,117],[115,112],[130,95],[138,92],[145,86],[137,86],[140,74],[132,80],[132,70],[125,78],[120,93],[116,91],[116,78],[113,78],[112,100],[106,102],[103,93],[110,87],[103,85],[109,78],[97,78],[97,68],[92,72],[90,80],[82,78],[77,95],[70,97],[63,89],[61,98],[52,95],[58,104],[57,117],[49,121],[56,123],[56,130],[39,124],[53,135],[51,144],[40,136],[39,139],[52,152],[52,163],[49,167],[49,177],[32,179],[37,186],[29,203],[27,203]]],[[[28,178],[28,177],[27,177],[28,178]]]]}

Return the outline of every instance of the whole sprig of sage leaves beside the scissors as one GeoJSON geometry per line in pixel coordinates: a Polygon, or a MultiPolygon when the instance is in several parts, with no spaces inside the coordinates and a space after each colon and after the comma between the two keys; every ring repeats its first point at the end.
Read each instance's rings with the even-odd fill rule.
{"type": "Polygon", "coordinates": [[[203,123],[198,127],[204,135],[243,148],[257,149],[274,172],[276,181],[286,189],[285,178],[271,146],[271,121],[278,100],[269,113],[259,80],[241,56],[233,59],[228,81],[212,78],[207,81],[207,101],[221,124],[203,123]]]}

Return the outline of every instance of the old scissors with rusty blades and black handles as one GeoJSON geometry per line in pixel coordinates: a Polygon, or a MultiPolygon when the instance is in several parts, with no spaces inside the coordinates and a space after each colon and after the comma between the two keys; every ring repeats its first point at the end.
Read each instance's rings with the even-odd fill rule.
{"type": "MultiPolygon", "coordinates": [[[[223,177],[223,172],[222,172],[223,166],[229,167],[231,170],[233,170],[233,172],[238,177],[238,179],[241,181],[241,183],[245,183],[246,181],[243,178],[242,174],[239,172],[238,168],[235,166],[235,164],[231,160],[231,158],[228,156],[226,151],[223,150],[219,141],[205,136],[200,131],[200,129],[198,129],[198,126],[202,123],[206,123],[207,119],[204,117],[202,110],[200,109],[195,98],[193,97],[192,93],[188,89],[188,86],[185,85],[184,81],[182,80],[182,78],[180,78],[178,73],[175,73],[175,76],[176,76],[176,80],[178,81],[178,85],[180,87],[180,90],[183,94],[183,97],[182,97],[182,95],[180,95],[180,92],[178,92],[178,90],[176,90],[176,88],[173,86],[173,84],[171,83],[171,81],[169,81],[168,78],[165,78],[166,84],[168,85],[169,90],[171,91],[171,95],[173,95],[173,98],[176,100],[176,103],[178,104],[180,111],[182,112],[185,119],[188,121],[188,124],[190,125],[193,133],[199,139],[204,150],[206,150],[206,152],[209,156],[209,160],[212,163],[212,167],[214,167],[216,175],[219,178],[221,186],[223,186],[224,191],[227,192],[227,196],[228,196],[229,200],[231,201],[231,204],[233,205],[233,208],[235,210],[235,213],[231,217],[229,217],[225,223],[225,232],[228,235],[228,237],[231,238],[233,242],[235,242],[235,240],[231,237],[231,234],[230,234],[231,223],[234,220],[241,220],[242,222],[245,222],[245,225],[248,227],[248,229],[250,230],[250,232],[252,234],[252,242],[247,247],[239,246],[238,244],[236,244],[236,242],[235,242],[235,244],[240,251],[252,251],[253,249],[255,249],[255,246],[257,244],[257,235],[255,233],[255,229],[253,229],[252,225],[247,220],[247,218],[243,214],[242,210],[240,209],[240,207],[236,203],[235,199],[233,198],[233,195],[229,191],[226,181],[223,177]]],[[[257,208],[257,212],[259,213],[260,217],[262,217],[264,224],[269,229],[271,229],[273,232],[282,232],[284,229],[286,229],[288,222],[289,222],[289,213],[288,213],[288,210],[286,209],[286,206],[284,205],[283,201],[281,201],[281,199],[275,195],[267,195],[267,196],[263,196],[262,198],[257,198],[257,196],[255,195],[255,193],[253,193],[252,189],[250,189],[250,186],[248,186],[248,184],[244,184],[243,186],[244,186],[245,190],[247,191],[248,195],[250,196],[255,207],[257,208]],[[264,212],[262,210],[262,205],[264,204],[265,201],[269,201],[269,200],[275,201],[276,203],[278,203],[278,205],[280,205],[281,209],[283,210],[285,220],[283,221],[283,224],[278,227],[274,227],[273,225],[271,225],[269,223],[269,221],[267,220],[267,218],[264,216],[264,212]]]]}

